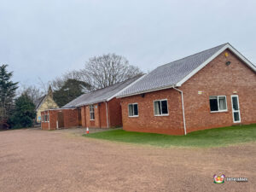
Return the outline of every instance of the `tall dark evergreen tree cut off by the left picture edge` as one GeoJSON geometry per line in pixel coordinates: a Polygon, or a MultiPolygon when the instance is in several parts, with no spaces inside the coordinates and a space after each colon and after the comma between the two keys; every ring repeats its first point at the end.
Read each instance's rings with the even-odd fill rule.
{"type": "Polygon", "coordinates": [[[13,72],[8,73],[7,67],[8,65],[0,66],[0,128],[6,126],[13,108],[15,90],[18,89],[18,83],[10,80],[13,77],[13,72]]]}

